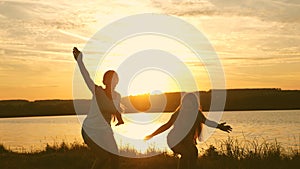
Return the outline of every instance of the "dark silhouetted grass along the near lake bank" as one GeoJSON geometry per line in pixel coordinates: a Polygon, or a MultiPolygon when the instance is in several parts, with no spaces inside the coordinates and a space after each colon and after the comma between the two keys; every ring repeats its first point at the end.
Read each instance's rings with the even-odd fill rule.
{"type": "MultiPolygon", "coordinates": [[[[199,157],[199,168],[203,169],[293,169],[300,166],[299,149],[286,153],[279,143],[257,140],[244,141],[228,138],[211,145],[199,157]]],[[[121,153],[143,156],[133,148],[124,147],[121,153]]],[[[147,153],[157,153],[155,148],[147,153]]],[[[89,169],[94,156],[80,143],[47,145],[40,152],[16,153],[0,145],[1,169],[89,169]]],[[[121,157],[121,168],[128,169],[165,169],[176,168],[178,158],[160,153],[147,158],[121,157]]]]}

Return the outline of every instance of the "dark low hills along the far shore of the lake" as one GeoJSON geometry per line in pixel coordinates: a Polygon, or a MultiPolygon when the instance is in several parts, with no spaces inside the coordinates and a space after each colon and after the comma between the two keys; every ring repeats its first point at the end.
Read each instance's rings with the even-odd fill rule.
{"type": "MultiPolygon", "coordinates": [[[[300,110],[300,90],[271,89],[228,89],[224,111],[300,110]]],[[[212,91],[199,91],[203,111],[210,110],[212,91]]],[[[182,93],[160,95],[137,95],[122,98],[127,113],[172,112],[180,104],[182,93]],[[162,106],[162,103],[163,104],[162,106]]],[[[31,116],[76,115],[74,104],[80,106],[78,112],[84,115],[89,110],[90,100],[2,100],[0,118],[31,116]]],[[[216,109],[210,111],[223,111],[216,109]]]]}

